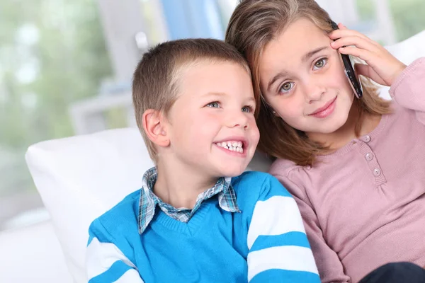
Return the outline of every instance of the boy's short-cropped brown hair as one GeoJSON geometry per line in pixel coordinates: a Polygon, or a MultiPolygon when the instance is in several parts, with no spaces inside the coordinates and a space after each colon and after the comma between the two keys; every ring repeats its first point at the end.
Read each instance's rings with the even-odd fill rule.
{"type": "Polygon", "coordinates": [[[184,39],[161,43],[145,53],[137,65],[132,81],[132,100],[137,127],[155,163],[157,149],[143,129],[143,113],[153,109],[167,115],[181,91],[179,82],[183,68],[203,62],[233,62],[251,74],[244,57],[232,45],[214,39],[184,39]]]}

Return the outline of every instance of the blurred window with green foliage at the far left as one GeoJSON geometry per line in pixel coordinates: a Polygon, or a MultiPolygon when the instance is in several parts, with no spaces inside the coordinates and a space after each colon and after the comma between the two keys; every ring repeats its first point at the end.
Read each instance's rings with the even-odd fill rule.
{"type": "Polygon", "coordinates": [[[0,230],[47,217],[24,154],[74,134],[69,105],[112,76],[96,1],[0,1],[0,230]]]}

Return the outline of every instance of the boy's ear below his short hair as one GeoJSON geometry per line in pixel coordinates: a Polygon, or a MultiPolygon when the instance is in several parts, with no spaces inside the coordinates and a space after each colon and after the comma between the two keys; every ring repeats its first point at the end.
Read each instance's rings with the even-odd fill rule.
{"type": "Polygon", "coordinates": [[[143,129],[147,137],[158,146],[169,146],[170,140],[166,132],[166,119],[164,115],[153,109],[148,109],[142,116],[143,129]]]}

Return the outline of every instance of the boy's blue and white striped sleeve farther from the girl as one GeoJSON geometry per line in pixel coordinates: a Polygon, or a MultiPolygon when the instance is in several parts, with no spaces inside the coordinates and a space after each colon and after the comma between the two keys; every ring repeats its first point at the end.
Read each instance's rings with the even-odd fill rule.
{"type": "Polygon", "coordinates": [[[96,219],[89,229],[86,272],[89,283],[144,283],[137,267],[114,244],[110,233],[96,219]]]}

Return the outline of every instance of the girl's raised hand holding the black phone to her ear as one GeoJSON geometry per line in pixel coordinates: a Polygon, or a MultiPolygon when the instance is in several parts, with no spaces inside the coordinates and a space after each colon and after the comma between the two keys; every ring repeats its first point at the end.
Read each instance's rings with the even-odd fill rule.
{"type": "Polygon", "coordinates": [[[358,75],[367,76],[384,86],[391,86],[397,76],[406,68],[405,64],[392,56],[378,42],[370,40],[356,30],[348,30],[341,23],[338,27],[339,30],[334,30],[329,35],[331,40],[335,40],[331,42],[331,47],[341,54],[351,54],[368,63],[367,65],[355,65],[358,75]]]}

